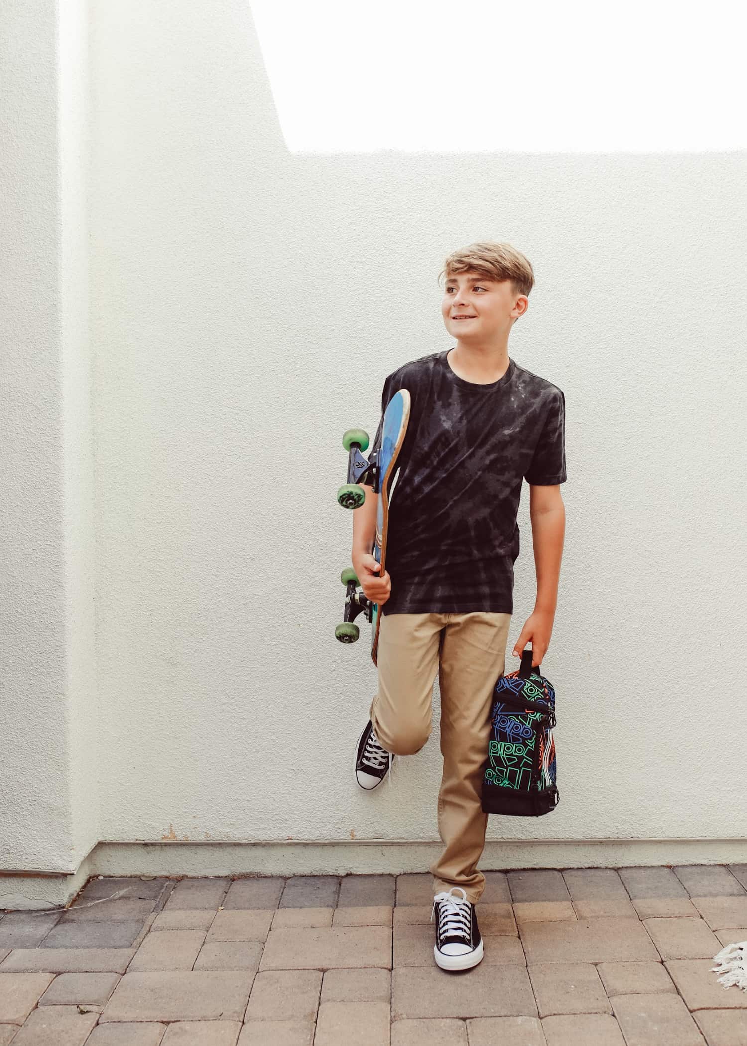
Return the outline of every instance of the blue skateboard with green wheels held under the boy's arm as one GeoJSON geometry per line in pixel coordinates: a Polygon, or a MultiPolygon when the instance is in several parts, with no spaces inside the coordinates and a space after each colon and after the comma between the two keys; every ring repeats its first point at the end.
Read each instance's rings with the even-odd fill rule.
{"type": "MultiPolygon", "coordinates": [[[[410,393],[400,389],[394,393],[384,412],[381,448],[371,454],[370,460],[363,457],[363,451],[368,448],[368,435],[362,429],[348,429],[342,437],[342,446],[348,451],[347,482],[337,492],[337,501],[343,508],[359,508],[365,501],[366,492],[360,486],[364,482],[374,486],[379,499],[377,506],[376,544],[371,549],[374,558],[381,563],[379,576],[383,577],[386,566],[386,538],[389,528],[389,505],[400,475],[395,471],[397,460],[407,432],[410,418],[410,393]]],[[[335,635],[342,643],[354,643],[360,635],[355,623],[356,617],[363,614],[371,627],[371,660],[378,664],[379,629],[381,616],[379,604],[367,599],[363,591],[358,590],[360,584],[352,567],[346,567],[340,574],[340,581],[345,586],[345,615],[341,624],[335,629],[335,635]]]]}

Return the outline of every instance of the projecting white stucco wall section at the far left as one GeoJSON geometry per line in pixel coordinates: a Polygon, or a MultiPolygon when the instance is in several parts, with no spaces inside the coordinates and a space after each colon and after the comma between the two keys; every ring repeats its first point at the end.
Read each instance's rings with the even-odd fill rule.
{"type": "Polygon", "coordinates": [[[87,6],[0,13],[2,869],[98,839],[87,6]]]}

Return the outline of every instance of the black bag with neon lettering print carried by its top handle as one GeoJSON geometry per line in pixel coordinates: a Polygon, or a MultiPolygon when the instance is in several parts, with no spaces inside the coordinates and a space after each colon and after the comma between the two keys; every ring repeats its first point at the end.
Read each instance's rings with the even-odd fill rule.
{"type": "Polygon", "coordinates": [[[482,810],[510,817],[541,817],[560,800],[552,727],[556,691],[533,653],[521,667],[500,676],[493,690],[491,735],[482,774],[482,810]]]}

